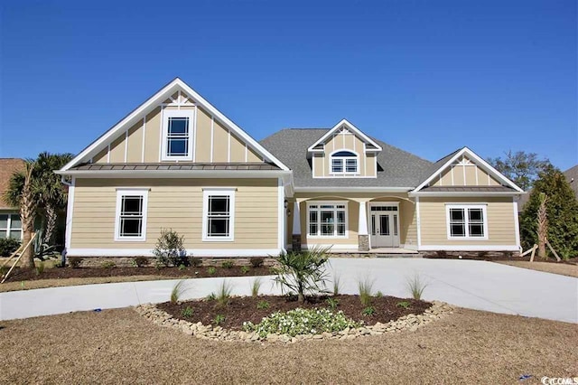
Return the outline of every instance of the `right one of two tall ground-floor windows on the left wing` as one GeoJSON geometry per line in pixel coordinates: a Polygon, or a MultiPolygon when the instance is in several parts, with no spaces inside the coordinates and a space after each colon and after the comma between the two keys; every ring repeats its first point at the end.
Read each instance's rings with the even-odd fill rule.
{"type": "Polygon", "coordinates": [[[235,189],[205,189],[202,199],[202,240],[234,240],[235,189]]]}

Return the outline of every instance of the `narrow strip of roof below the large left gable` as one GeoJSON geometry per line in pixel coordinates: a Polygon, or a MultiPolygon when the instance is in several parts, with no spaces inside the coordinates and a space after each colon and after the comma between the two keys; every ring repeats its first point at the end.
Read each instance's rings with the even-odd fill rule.
{"type": "Polygon", "coordinates": [[[279,170],[275,164],[270,163],[117,163],[117,164],[79,164],[70,170],[82,171],[148,171],[148,170],[279,170]]]}

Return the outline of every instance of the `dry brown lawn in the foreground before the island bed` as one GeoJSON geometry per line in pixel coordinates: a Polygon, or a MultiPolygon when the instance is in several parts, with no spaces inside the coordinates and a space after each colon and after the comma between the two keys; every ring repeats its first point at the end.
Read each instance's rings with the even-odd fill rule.
{"type": "Polygon", "coordinates": [[[130,308],[0,324],[1,383],[537,384],[578,376],[578,325],[461,308],[414,333],[288,345],[200,340],[130,308]]]}

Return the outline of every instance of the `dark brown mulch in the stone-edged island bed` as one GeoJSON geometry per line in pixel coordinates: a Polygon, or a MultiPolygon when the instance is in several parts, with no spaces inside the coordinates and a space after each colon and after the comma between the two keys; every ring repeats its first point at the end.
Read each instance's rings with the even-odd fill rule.
{"type": "MultiPolygon", "coordinates": [[[[429,308],[432,304],[424,301],[417,301],[409,298],[396,298],[395,296],[379,296],[373,297],[371,306],[375,309],[374,315],[362,315],[363,309],[366,307],[361,305],[359,296],[332,296],[339,300],[339,305],[335,311],[342,311],[355,321],[363,321],[366,325],[376,324],[378,322],[386,324],[389,321],[397,318],[414,314],[420,315],[429,308]],[[409,307],[404,308],[398,306],[400,302],[408,302],[409,307]]],[[[225,316],[225,321],[219,326],[242,330],[243,322],[252,322],[258,324],[263,317],[271,315],[276,311],[286,312],[297,307],[301,308],[329,308],[326,303],[327,296],[309,297],[304,304],[297,302],[296,296],[233,296],[229,298],[228,305],[219,305],[216,300],[200,300],[189,301],[179,304],[172,304],[166,302],[157,305],[158,308],[164,310],[173,318],[182,319],[191,323],[214,324],[217,315],[225,316]],[[266,301],[269,304],[267,309],[257,309],[257,304],[266,301]],[[192,315],[190,317],[183,317],[182,311],[187,307],[191,307],[192,315]]]]}

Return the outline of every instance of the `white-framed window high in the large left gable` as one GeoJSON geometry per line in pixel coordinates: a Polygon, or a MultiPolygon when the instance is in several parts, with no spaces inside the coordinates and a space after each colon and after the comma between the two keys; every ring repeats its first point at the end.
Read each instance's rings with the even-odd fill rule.
{"type": "Polygon", "coordinates": [[[162,160],[192,160],[194,110],[163,111],[162,160]]]}

